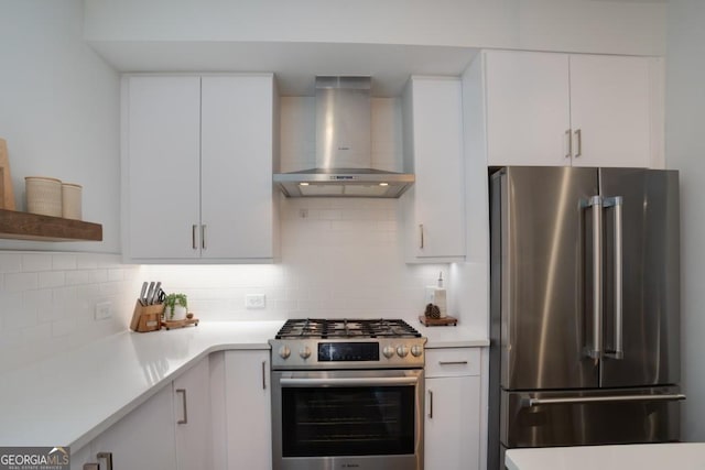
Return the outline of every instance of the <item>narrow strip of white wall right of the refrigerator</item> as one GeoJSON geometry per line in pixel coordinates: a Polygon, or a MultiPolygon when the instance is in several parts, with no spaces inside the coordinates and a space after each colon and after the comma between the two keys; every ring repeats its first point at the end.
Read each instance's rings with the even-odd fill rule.
{"type": "Polygon", "coordinates": [[[705,440],[705,2],[671,0],[666,59],[666,165],[681,176],[684,440],[705,440]]]}

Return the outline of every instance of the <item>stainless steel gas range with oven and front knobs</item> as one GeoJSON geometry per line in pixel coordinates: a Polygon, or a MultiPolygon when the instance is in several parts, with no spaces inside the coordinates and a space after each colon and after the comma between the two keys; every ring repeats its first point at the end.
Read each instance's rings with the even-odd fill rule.
{"type": "Polygon", "coordinates": [[[274,470],[422,470],[426,339],[399,319],[291,319],[272,347],[274,470]]]}

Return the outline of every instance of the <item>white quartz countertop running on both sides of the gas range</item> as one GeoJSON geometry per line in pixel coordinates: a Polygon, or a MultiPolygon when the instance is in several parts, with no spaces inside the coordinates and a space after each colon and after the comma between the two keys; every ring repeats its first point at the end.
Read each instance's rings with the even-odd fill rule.
{"type": "MultiPolygon", "coordinates": [[[[0,446],[75,450],[214,351],[269,349],[284,320],[202,321],[197,327],[123,331],[0,374],[0,446]]],[[[410,323],[427,348],[487,346],[468,327],[410,323]]]]}

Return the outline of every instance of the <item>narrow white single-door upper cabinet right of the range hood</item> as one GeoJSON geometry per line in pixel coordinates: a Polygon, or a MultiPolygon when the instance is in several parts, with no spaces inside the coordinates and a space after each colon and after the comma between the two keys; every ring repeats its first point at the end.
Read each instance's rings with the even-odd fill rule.
{"type": "Polygon", "coordinates": [[[465,256],[460,80],[412,77],[403,97],[404,157],[414,185],[402,196],[406,261],[465,256]]]}

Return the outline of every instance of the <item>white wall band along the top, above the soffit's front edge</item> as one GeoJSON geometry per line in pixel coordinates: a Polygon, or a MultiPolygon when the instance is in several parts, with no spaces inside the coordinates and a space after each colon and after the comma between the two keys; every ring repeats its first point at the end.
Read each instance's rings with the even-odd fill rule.
{"type": "Polygon", "coordinates": [[[519,47],[660,55],[665,2],[595,0],[87,0],[89,41],[519,47]]]}

